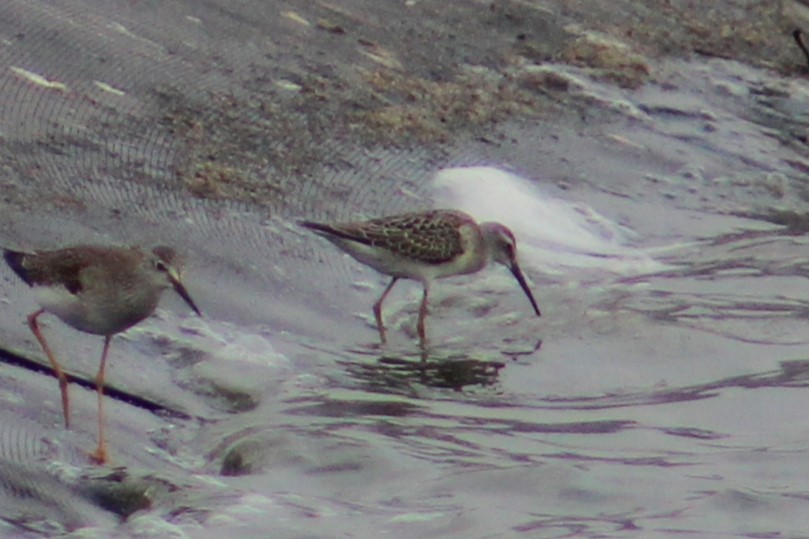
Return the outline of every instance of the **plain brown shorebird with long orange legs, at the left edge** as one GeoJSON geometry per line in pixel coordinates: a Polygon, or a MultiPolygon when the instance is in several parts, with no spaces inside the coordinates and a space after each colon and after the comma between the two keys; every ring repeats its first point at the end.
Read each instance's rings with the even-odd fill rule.
{"type": "Polygon", "coordinates": [[[104,369],[110,341],[150,316],[167,288],[174,290],[201,316],[180,281],[179,261],[171,247],[79,245],[55,251],[24,253],[5,249],[3,256],[14,273],[31,286],[40,309],[28,316],[28,326],[39,341],[59,379],[65,427],[70,428],[67,377],[42,335],[37,318],[49,312],[85,333],[104,336],[101,364],[96,375],[98,393],[98,448],[91,457],[108,461],[104,439],[104,369]]]}

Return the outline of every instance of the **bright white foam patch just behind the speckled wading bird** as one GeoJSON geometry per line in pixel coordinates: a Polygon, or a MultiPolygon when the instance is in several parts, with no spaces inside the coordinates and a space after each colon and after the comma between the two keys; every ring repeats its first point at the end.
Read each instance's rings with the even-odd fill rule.
{"type": "Polygon", "coordinates": [[[494,167],[449,168],[433,179],[435,200],[479,221],[498,221],[517,237],[524,269],[619,274],[661,271],[666,265],[633,247],[638,235],[587,204],[554,198],[526,178],[494,167]]]}

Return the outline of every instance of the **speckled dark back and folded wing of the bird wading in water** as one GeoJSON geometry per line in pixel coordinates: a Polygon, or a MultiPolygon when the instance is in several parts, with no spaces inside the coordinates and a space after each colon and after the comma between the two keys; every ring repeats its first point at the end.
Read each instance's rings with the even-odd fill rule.
{"type": "Polygon", "coordinates": [[[303,226],[337,238],[387,249],[428,264],[444,264],[463,254],[459,227],[475,225],[457,210],[432,210],[349,223],[313,223],[303,226]]]}

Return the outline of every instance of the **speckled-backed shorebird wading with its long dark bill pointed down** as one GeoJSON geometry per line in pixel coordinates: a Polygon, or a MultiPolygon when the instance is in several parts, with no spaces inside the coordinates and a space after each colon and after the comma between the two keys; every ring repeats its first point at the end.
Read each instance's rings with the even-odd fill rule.
{"type": "Polygon", "coordinates": [[[373,308],[382,344],[386,342],[382,302],[399,279],[420,281],[424,287],[417,324],[419,342],[424,347],[427,342],[424,320],[432,282],[441,277],[475,273],[492,260],[511,270],[540,316],[517,263],[514,234],[500,223],[478,224],[461,211],[431,210],[370,221],[301,221],[300,225],[314,230],[357,261],[393,277],[373,308]]]}

